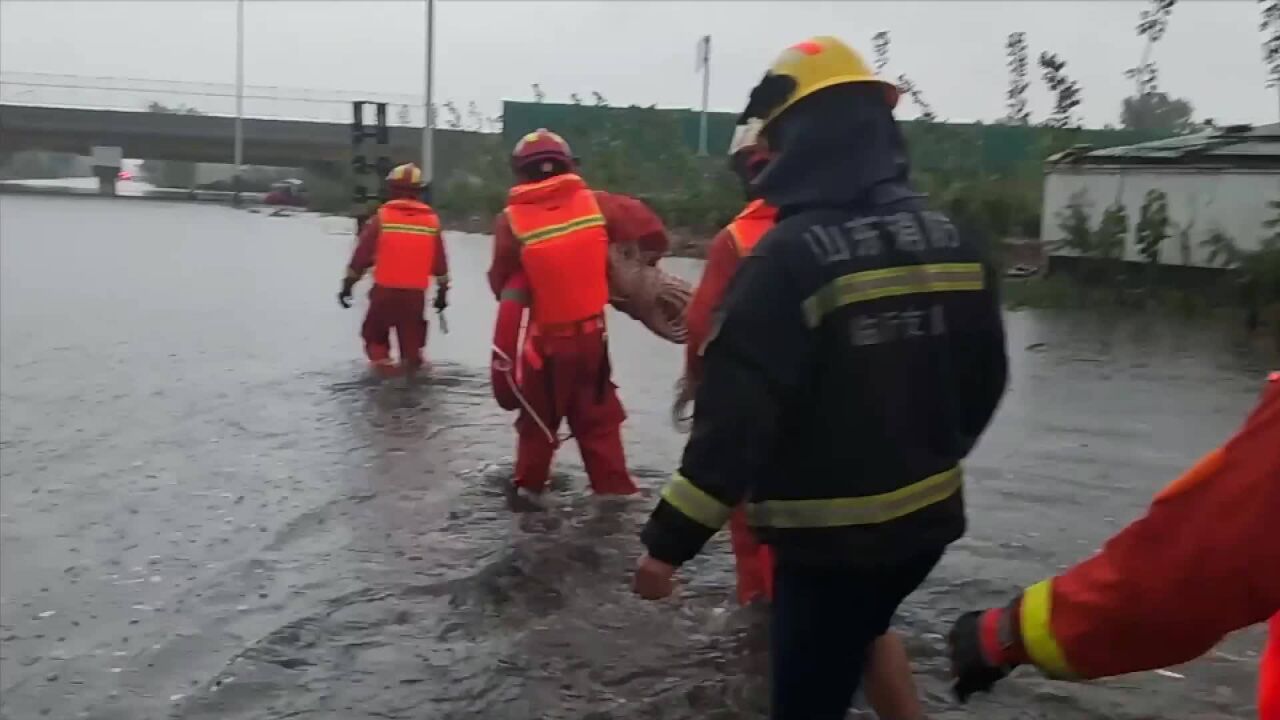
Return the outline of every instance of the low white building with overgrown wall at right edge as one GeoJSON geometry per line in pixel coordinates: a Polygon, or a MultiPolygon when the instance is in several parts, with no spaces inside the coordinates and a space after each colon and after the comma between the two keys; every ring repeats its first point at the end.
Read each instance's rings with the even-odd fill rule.
{"type": "Polygon", "coordinates": [[[1165,265],[1213,266],[1203,242],[1224,233],[1242,250],[1257,250],[1267,231],[1262,223],[1280,210],[1280,123],[1234,126],[1126,147],[1075,147],[1048,159],[1041,241],[1050,258],[1073,255],[1057,249],[1061,213],[1073,202],[1084,208],[1097,229],[1103,211],[1125,208],[1129,232],[1124,259],[1143,261],[1137,225],[1149,191],[1167,202],[1169,237],[1161,243],[1165,265]]]}

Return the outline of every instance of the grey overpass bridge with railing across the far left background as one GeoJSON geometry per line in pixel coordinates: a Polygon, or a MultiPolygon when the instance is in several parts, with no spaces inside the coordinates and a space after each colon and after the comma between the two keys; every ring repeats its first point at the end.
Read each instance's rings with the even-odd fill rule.
{"type": "MultiPolygon", "coordinates": [[[[0,73],[0,155],[88,155],[95,146],[115,146],[125,158],[230,163],[236,119],[225,110],[234,95],[234,87],[212,83],[0,73]],[[200,111],[148,111],[152,102],[200,111]]],[[[351,102],[364,99],[388,102],[385,154],[393,161],[421,158],[424,113],[417,97],[280,87],[246,87],[244,97],[247,165],[346,167],[352,158],[351,102]]],[[[461,122],[453,124],[461,128],[461,122]]],[[[492,129],[492,119],[476,118],[474,124],[468,131],[436,128],[438,181],[494,137],[479,132],[492,129]]],[[[378,154],[366,141],[364,155],[372,161],[378,154]]]]}

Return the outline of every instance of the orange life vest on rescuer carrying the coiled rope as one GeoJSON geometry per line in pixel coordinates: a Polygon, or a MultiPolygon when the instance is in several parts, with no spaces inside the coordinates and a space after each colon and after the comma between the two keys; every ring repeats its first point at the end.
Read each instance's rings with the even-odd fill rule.
{"type": "Polygon", "coordinates": [[[544,328],[600,315],[609,302],[609,236],[595,193],[575,174],[518,184],[507,222],[532,291],[534,323],[544,328]]]}

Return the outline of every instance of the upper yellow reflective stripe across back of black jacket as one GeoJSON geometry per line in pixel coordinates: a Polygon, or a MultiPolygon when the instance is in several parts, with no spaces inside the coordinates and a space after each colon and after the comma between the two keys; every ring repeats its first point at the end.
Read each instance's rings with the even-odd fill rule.
{"type": "Polygon", "coordinates": [[[841,275],[804,301],[805,322],[815,328],[828,313],[881,297],[918,292],[982,290],[986,277],[980,263],[936,263],[864,270],[841,275]]]}

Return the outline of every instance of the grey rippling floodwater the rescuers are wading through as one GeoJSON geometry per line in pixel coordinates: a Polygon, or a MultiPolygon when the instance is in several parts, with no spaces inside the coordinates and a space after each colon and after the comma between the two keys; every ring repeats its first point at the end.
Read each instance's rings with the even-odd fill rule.
{"type": "MultiPolygon", "coordinates": [[[[727,542],[628,592],[675,465],[680,348],[616,318],[645,497],[513,516],[489,397],[489,242],[449,238],[430,383],[365,379],[335,219],[0,197],[0,716],[762,717],[765,638],[727,542]]],[[[692,277],[696,264],[668,260],[692,277]]],[[[1233,328],[1009,315],[1012,383],[969,462],[970,533],[902,607],[933,717],[1249,717],[1261,633],[1097,685],[947,693],[960,611],[1087,556],[1226,437],[1267,369],[1233,328]]]]}

